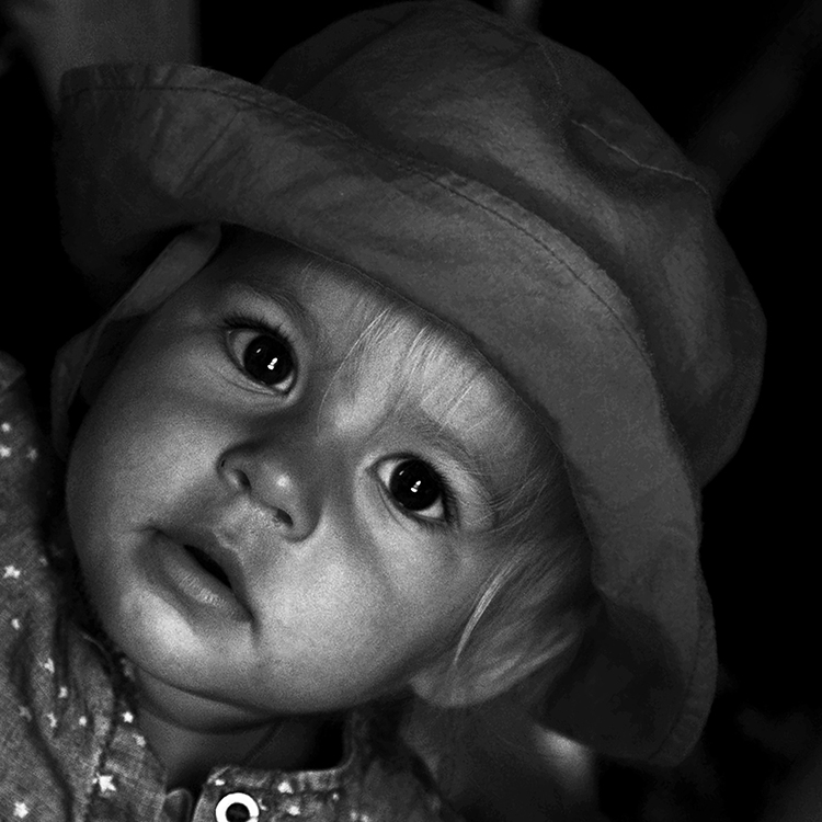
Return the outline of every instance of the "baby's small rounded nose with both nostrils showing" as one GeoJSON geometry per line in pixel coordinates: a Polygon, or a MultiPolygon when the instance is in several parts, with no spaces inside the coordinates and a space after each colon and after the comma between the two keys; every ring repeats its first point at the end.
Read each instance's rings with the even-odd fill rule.
{"type": "Polygon", "coordinates": [[[322,466],[315,448],[248,443],[227,449],[218,473],[236,493],[248,494],[272,516],[283,535],[298,540],[317,526],[322,507],[322,466]]]}

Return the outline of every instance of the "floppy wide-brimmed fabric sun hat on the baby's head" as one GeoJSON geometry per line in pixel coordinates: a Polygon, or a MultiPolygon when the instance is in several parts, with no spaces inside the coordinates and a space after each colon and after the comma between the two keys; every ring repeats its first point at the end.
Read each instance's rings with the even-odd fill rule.
{"type": "Polygon", "coordinates": [[[69,72],[57,179],[66,248],[115,305],[58,362],[58,427],[112,318],[198,271],[213,226],[354,266],[467,332],[564,455],[603,607],[540,721],[689,751],[716,674],[699,486],[743,436],[764,321],[705,181],[610,75],[468,0],[399,3],[260,85],[69,72]]]}

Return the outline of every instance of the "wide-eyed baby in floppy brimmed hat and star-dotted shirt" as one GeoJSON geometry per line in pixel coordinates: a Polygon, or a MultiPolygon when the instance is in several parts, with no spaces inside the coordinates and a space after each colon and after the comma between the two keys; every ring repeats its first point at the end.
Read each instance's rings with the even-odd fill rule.
{"type": "Polygon", "coordinates": [[[50,548],[4,366],[0,815],[452,819],[418,703],[687,753],[698,484],[763,327],[613,78],[470,2],[391,5],[259,87],[70,73],[58,186],[102,319],[55,370],[50,548]]]}

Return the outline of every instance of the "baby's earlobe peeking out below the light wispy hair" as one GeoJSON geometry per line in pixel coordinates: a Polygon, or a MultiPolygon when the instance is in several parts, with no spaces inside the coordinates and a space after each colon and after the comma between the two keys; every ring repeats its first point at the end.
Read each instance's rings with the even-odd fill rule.
{"type": "Polygon", "coordinates": [[[479,705],[510,690],[529,673],[518,659],[500,659],[477,670],[446,659],[431,663],[411,678],[411,688],[429,705],[464,708],[479,705]]]}

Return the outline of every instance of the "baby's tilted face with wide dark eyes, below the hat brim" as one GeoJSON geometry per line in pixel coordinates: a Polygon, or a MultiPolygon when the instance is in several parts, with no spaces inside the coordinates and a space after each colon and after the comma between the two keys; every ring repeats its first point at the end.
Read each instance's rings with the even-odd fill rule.
{"type": "MultiPolygon", "coordinates": [[[[456,336],[247,241],[141,328],[75,443],[92,601],[138,672],[250,711],[413,685],[505,558],[536,423],[456,336]]],[[[538,435],[537,435],[538,436],[538,435]]]]}

